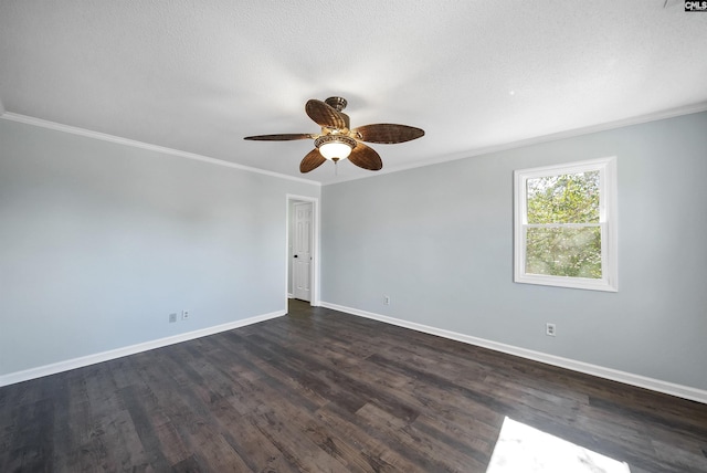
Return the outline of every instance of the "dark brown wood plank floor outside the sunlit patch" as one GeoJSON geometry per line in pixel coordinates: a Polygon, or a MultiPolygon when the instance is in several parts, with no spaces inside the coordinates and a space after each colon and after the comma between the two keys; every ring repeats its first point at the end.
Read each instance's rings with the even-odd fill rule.
{"type": "Polygon", "coordinates": [[[506,416],[632,473],[707,472],[705,404],[297,301],[0,388],[0,472],[484,473],[506,416]]]}

